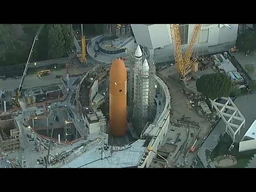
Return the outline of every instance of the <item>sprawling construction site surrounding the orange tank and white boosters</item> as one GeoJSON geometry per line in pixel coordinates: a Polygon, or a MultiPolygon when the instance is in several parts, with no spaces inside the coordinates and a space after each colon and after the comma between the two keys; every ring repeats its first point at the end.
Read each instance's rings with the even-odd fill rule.
{"type": "MultiPolygon", "coordinates": [[[[230,72],[230,76],[237,77],[236,82],[240,77],[235,71],[227,70],[232,68],[228,53],[198,56],[194,48],[201,24],[196,24],[182,57],[178,30],[178,24],[170,24],[175,65],[164,66],[158,72],[151,48],[118,47],[122,43],[116,40],[110,47],[119,50],[118,54],[125,50],[125,58],[99,63],[75,74],[72,72],[78,66],[72,63],[66,64],[61,75],[42,71],[33,78],[41,82],[51,80],[51,83],[23,88],[29,56],[19,88],[0,91],[0,148],[1,158],[6,160],[0,166],[170,168],[191,165],[198,141],[210,130],[207,104],[198,92],[191,91],[195,74],[199,76],[201,71],[211,68],[230,72]],[[228,68],[223,67],[225,64],[228,68]],[[198,101],[201,103],[196,106],[198,101]],[[194,106],[200,112],[193,110],[194,106]]],[[[37,37],[38,34],[34,43],[37,37]]],[[[103,42],[98,42],[98,46],[108,49],[103,42]]],[[[76,47],[80,48],[76,57],[85,64],[83,34],[81,47],[79,44],[76,47]]]]}

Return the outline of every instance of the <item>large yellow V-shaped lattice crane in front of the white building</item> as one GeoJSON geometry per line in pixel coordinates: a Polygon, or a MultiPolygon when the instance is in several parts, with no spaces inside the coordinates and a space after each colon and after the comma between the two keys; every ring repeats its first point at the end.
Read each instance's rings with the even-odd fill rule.
{"type": "Polygon", "coordinates": [[[181,80],[184,82],[186,82],[186,75],[191,71],[192,65],[197,61],[197,58],[191,58],[191,56],[196,41],[200,35],[201,26],[202,24],[195,25],[188,44],[188,48],[183,56],[180,42],[179,24],[170,24],[175,66],[178,73],[180,74],[181,80]]]}

